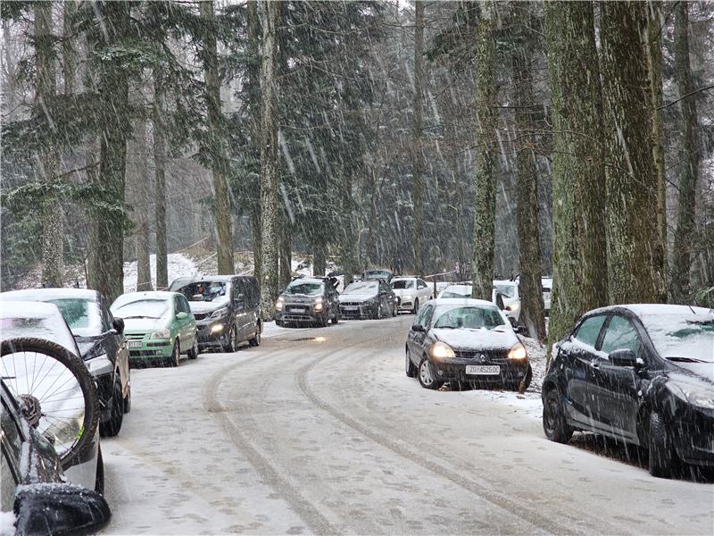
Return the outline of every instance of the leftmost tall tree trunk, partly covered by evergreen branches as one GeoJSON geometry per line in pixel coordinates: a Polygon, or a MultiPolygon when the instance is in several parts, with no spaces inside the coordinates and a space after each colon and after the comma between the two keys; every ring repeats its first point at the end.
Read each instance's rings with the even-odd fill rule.
{"type": "MultiPolygon", "coordinates": [[[[38,107],[45,111],[41,117],[47,116],[49,122],[52,119],[49,118],[48,110],[52,108],[57,93],[52,3],[36,2],[34,10],[37,54],[35,97],[38,107]]],[[[35,172],[37,178],[47,186],[42,201],[42,285],[45,287],[62,287],[64,279],[62,203],[54,188],[58,168],[59,158],[54,147],[51,144],[42,147],[37,154],[35,172]]]]}

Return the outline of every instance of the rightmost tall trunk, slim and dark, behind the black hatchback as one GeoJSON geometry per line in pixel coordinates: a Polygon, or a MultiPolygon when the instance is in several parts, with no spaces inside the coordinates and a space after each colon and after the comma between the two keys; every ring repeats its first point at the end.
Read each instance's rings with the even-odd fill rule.
{"type": "Polygon", "coordinates": [[[699,173],[699,137],[697,132],[696,96],[693,92],[692,68],[689,63],[688,4],[678,2],[675,7],[675,77],[682,114],[682,163],[679,172],[679,200],[677,229],[672,247],[672,297],[677,303],[690,303],[690,269],[694,239],[695,194],[699,173]]]}

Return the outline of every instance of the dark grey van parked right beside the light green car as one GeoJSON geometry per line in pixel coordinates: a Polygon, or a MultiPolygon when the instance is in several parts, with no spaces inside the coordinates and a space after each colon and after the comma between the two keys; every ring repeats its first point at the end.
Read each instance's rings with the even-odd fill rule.
{"type": "Polygon", "coordinates": [[[169,287],[188,300],[198,327],[198,348],[235,352],[240,343],[261,344],[261,289],[248,275],[181,278],[169,287]]]}

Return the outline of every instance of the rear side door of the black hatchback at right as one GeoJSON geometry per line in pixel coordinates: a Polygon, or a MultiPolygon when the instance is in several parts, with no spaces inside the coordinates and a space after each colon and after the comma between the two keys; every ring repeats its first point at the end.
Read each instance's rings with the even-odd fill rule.
{"type": "Polygon", "coordinates": [[[591,400],[588,398],[587,375],[595,358],[606,314],[587,317],[577,330],[560,345],[558,358],[565,378],[568,415],[578,423],[591,423],[591,400]]]}

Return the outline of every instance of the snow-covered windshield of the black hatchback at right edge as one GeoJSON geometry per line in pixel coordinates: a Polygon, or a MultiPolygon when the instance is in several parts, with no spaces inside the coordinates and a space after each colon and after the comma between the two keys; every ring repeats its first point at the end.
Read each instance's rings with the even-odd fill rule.
{"type": "Polygon", "coordinates": [[[714,363],[712,315],[652,314],[644,315],[642,322],[660,356],[714,363]]]}

